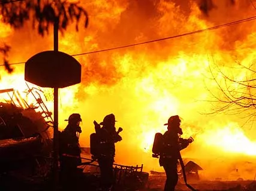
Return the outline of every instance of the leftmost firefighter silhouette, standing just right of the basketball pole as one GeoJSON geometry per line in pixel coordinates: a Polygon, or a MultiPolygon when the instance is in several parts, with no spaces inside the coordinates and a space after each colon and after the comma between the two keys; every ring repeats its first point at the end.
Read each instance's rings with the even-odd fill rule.
{"type": "Polygon", "coordinates": [[[65,121],[68,121],[68,125],[59,133],[59,163],[62,183],[69,189],[76,186],[77,166],[81,164],[79,135],[82,130],[79,124],[82,119],[79,113],[73,113],[65,121]]]}

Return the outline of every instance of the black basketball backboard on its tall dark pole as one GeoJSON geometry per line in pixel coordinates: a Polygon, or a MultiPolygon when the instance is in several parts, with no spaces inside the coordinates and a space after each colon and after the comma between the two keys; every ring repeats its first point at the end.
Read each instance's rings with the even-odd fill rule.
{"type": "Polygon", "coordinates": [[[40,87],[53,88],[53,178],[59,183],[58,90],[81,82],[81,65],[72,56],[58,51],[58,26],[54,32],[54,50],[35,54],[25,63],[25,80],[40,87]]]}

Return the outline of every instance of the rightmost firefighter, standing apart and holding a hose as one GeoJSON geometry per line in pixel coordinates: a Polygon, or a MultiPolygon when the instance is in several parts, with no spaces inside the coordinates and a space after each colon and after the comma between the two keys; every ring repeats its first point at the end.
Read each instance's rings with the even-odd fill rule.
{"type": "Polygon", "coordinates": [[[171,116],[168,123],[164,124],[168,125],[164,135],[161,133],[155,134],[152,156],[156,158],[159,156],[159,165],[164,167],[166,174],[164,191],[174,191],[178,181],[177,160],[180,158],[179,151],[185,149],[193,141],[192,137],[188,139],[180,137],[183,134],[180,122],[179,116],[171,116]]]}

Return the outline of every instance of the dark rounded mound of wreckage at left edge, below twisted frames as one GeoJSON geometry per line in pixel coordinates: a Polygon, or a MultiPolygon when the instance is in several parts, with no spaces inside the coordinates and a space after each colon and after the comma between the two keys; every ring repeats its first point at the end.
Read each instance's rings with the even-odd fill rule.
{"type": "Polygon", "coordinates": [[[0,102],[0,174],[25,165],[34,168],[31,162],[34,155],[41,154],[44,149],[41,129],[31,120],[38,115],[34,110],[0,102]],[[30,118],[22,114],[29,111],[30,118]]]}

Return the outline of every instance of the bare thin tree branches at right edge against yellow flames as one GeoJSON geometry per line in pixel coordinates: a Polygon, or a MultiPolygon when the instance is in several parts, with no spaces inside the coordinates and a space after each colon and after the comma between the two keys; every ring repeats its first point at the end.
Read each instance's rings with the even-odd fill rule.
{"type": "Polygon", "coordinates": [[[233,67],[210,67],[217,91],[210,90],[214,106],[212,113],[228,113],[244,116],[252,121],[256,115],[256,66],[236,61],[233,67]],[[225,70],[226,69],[226,70],[225,70]],[[216,106],[217,103],[217,106],[216,106]]]}

